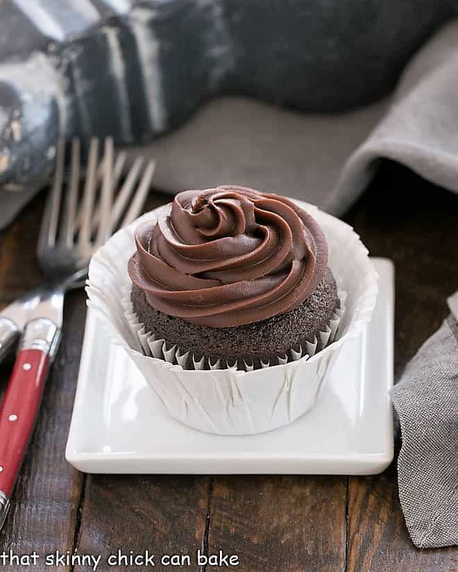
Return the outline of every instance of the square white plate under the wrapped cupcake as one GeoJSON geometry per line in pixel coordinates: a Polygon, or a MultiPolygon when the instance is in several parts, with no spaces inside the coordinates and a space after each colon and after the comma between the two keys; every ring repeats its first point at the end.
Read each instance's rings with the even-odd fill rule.
{"type": "Polygon", "coordinates": [[[379,296],[366,333],[340,352],[312,411],[261,435],[208,435],[171,418],[88,310],[67,460],[91,473],[383,471],[393,459],[394,269],[387,259],[372,260],[379,296]]]}

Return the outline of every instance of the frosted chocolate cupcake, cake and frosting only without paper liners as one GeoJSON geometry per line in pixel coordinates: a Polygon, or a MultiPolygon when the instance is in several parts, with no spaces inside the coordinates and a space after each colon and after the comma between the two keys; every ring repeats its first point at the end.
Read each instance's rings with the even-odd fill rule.
{"type": "Polygon", "coordinates": [[[328,343],[339,308],[328,245],[291,200],[234,186],[184,191],[135,242],[133,310],[189,360],[251,369],[328,343]]]}

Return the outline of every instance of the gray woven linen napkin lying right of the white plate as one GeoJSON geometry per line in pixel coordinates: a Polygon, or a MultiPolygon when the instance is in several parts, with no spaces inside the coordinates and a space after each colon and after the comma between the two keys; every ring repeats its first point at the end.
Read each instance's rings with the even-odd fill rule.
{"type": "Polygon", "coordinates": [[[391,391],[400,502],[418,548],[458,544],[458,292],[448,304],[452,313],[391,391]]]}

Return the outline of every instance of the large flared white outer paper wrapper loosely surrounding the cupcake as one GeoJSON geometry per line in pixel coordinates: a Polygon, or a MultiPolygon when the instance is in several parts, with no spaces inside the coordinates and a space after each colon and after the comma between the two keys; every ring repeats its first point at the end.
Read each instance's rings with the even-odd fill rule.
{"type": "MultiPolygon", "coordinates": [[[[236,365],[184,370],[179,363],[154,357],[160,355],[154,353],[159,349],[164,356],[164,344],[154,340],[157,346],[153,352],[147,341],[150,336],[141,331],[142,324],[137,321],[131,326],[135,316],[128,318],[126,297],[131,288],[127,263],[135,252],[135,228],[155,220],[155,211],[114,234],[92,257],[87,287],[90,306],[101,315],[112,342],[128,352],[170,415],[180,422],[221,435],[262,433],[294,422],[316,403],[337,354],[371,320],[378,293],[377,273],[359,236],[341,220],[313,205],[296,202],[323,228],[328,240],[328,266],[339,289],[346,292],[345,312],[339,316],[334,341],[311,357],[305,354],[253,371],[238,370],[236,365]],[[145,355],[149,352],[151,356],[145,355]]],[[[176,359],[176,348],[165,349],[166,358],[176,359]]]]}

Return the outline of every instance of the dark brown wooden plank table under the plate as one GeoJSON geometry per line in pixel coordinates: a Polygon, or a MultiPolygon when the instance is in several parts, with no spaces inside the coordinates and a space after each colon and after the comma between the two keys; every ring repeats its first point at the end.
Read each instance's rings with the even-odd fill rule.
{"type": "MultiPolygon", "coordinates": [[[[148,208],[168,200],[156,193],[148,208]]],[[[0,233],[0,304],[40,282],[35,241],[44,197],[0,233]]],[[[396,263],[396,357],[407,361],[446,316],[458,288],[458,198],[384,164],[345,219],[371,254],[396,263]]],[[[0,553],[239,555],[244,572],[452,571],[458,549],[419,551],[398,501],[396,463],[379,476],[92,476],[64,458],[85,322],[83,291],[65,304],[64,340],[45,390],[0,553]]],[[[0,369],[1,388],[8,366],[0,369]]],[[[396,438],[398,449],[399,438],[396,438]]],[[[194,557],[193,557],[194,559],[194,557]]],[[[142,566],[98,570],[143,570],[142,566]]],[[[1,564],[0,564],[1,565],[1,564]]],[[[7,569],[22,569],[10,566],[7,569]]],[[[58,570],[89,570],[60,566],[58,570]]],[[[149,568],[148,568],[149,569],[149,568]]],[[[160,566],[156,570],[199,570],[160,566]]],[[[202,571],[220,570],[203,566],[202,571]]]]}

